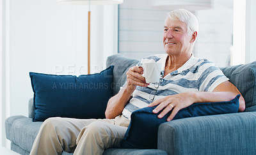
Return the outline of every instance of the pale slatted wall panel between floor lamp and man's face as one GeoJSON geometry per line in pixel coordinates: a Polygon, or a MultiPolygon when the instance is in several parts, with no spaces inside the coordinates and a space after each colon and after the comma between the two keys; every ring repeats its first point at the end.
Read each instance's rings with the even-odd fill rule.
{"type": "Polygon", "coordinates": [[[163,54],[163,25],[168,10],[157,10],[148,0],[127,0],[119,6],[119,48],[127,57],[141,59],[163,54]]]}

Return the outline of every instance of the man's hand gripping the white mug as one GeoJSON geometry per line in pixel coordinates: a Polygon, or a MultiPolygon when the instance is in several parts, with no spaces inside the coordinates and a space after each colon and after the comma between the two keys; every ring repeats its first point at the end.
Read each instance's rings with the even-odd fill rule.
{"type": "Polygon", "coordinates": [[[146,83],[145,77],[143,77],[143,68],[134,66],[129,68],[126,73],[127,75],[127,89],[132,92],[136,89],[137,85],[141,87],[147,87],[149,84],[146,83]]]}

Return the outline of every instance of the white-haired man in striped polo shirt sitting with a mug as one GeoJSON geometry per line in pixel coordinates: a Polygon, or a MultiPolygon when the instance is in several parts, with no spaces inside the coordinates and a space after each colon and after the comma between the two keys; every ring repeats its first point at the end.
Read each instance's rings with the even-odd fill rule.
{"type": "MultiPolygon", "coordinates": [[[[161,81],[157,87],[147,84],[143,68],[127,71],[127,82],[113,96],[106,108],[107,119],[50,118],[41,126],[31,154],[102,154],[104,149],[118,147],[125,135],[131,113],[141,107],[157,107],[154,113],[162,118],[170,110],[171,121],[180,109],[198,102],[229,101],[240,92],[228,82],[221,70],[206,59],[193,56],[198,22],[187,10],[168,13],[164,22],[163,45],[166,54],[152,55],[142,61],[162,63],[161,81]],[[157,89],[157,90],[156,90],[157,89]],[[154,98],[150,92],[156,91],[154,98]]],[[[245,108],[239,98],[239,111],[245,108]]]]}

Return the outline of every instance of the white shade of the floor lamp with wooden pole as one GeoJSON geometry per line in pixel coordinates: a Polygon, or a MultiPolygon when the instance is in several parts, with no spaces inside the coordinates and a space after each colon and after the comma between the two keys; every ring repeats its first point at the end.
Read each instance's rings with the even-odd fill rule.
{"type": "MultiPolygon", "coordinates": [[[[91,5],[120,4],[124,0],[90,0],[91,5]]],[[[57,0],[59,4],[88,5],[89,0],[57,0]]]]}

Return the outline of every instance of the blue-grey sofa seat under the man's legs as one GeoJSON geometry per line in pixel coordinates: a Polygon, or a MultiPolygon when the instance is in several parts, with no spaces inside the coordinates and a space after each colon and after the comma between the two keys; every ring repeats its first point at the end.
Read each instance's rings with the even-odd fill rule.
{"type": "MultiPolygon", "coordinates": [[[[12,141],[11,149],[19,154],[28,155],[35,137],[39,131],[42,122],[32,122],[28,117],[17,115],[6,119],[6,138],[12,141]]],[[[104,155],[114,154],[167,154],[161,150],[141,150],[141,149],[107,149],[104,155]]],[[[62,155],[71,155],[63,152],[62,155]]]]}

